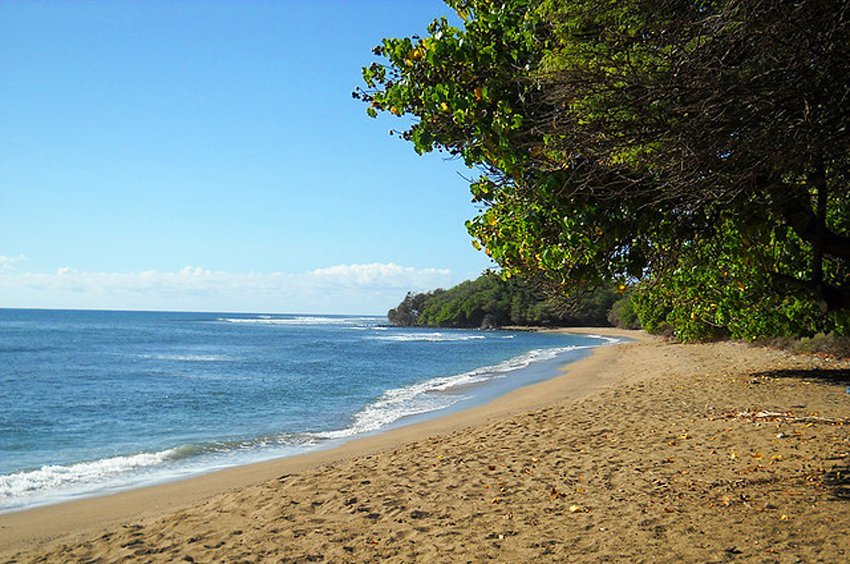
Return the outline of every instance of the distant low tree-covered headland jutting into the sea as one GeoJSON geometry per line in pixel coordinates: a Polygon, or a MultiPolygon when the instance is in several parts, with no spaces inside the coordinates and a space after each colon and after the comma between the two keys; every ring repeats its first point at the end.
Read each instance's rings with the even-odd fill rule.
{"type": "Polygon", "coordinates": [[[387,317],[397,326],[605,326],[619,298],[613,290],[602,289],[567,301],[546,297],[527,283],[485,273],[448,290],[408,292],[387,317]]]}

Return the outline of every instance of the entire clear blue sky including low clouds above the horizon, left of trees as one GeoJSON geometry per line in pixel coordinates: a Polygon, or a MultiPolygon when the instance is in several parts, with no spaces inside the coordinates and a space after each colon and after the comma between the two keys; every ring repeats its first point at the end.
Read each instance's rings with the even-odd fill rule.
{"type": "Polygon", "coordinates": [[[0,307],[383,313],[490,265],[351,98],[432,0],[0,2],[0,307]]]}

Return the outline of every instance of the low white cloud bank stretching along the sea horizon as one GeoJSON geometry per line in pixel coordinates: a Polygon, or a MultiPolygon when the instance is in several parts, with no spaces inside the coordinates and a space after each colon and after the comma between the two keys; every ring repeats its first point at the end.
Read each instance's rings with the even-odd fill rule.
{"type": "MultiPolygon", "coordinates": [[[[8,259],[8,260],[3,260],[8,259]]],[[[301,274],[232,273],[186,266],[175,272],[18,272],[0,258],[0,307],[290,313],[385,313],[407,291],[448,287],[440,268],[344,264],[301,274]]]]}

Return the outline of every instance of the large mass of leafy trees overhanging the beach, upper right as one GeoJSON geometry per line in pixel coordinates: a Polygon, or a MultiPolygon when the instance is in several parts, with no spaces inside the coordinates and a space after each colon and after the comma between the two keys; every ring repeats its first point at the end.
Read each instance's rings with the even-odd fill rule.
{"type": "Polygon", "coordinates": [[[476,171],[505,280],[684,341],[850,334],[850,2],[446,3],[354,96],[476,171]]]}

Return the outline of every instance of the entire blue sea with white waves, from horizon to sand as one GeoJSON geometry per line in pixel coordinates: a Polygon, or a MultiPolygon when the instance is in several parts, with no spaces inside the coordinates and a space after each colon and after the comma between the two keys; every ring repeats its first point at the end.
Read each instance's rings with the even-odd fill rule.
{"type": "Polygon", "coordinates": [[[298,454],[483,403],[606,342],[384,323],[0,310],[0,512],[298,454]]]}

